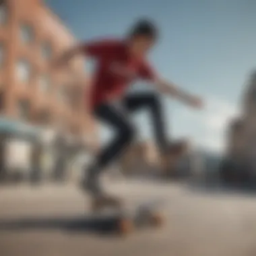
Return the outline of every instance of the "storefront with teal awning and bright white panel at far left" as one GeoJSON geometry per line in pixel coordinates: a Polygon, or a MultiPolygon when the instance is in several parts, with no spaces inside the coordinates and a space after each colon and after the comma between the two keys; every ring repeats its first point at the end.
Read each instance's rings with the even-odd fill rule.
{"type": "Polygon", "coordinates": [[[38,161],[32,160],[40,144],[40,129],[0,117],[0,180],[28,179],[32,169],[40,172],[38,161]]]}

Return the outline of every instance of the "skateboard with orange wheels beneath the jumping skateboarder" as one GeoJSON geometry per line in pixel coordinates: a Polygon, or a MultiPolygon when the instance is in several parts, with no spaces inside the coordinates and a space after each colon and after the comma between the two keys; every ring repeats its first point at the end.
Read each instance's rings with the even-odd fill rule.
{"type": "Polygon", "coordinates": [[[126,236],[141,228],[160,228],[164,224],[161,206],[160,200],[143,201],[130,207],[111,207],[108,212],[98,210],[96,215],[102,216],[102,228],[126,236]]]}

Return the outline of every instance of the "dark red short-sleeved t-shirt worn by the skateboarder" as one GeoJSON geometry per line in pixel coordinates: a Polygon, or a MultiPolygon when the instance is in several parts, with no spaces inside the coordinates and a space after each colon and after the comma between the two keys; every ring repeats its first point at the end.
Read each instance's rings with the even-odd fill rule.
{"type": "Polygon", "coordinates": [[[85,54],[96,59],[90,106],[119,99],[135,79],[153,80],[156,75],[145,59],[129,55],[123,40],[100,40],[84,46],[85,54]]]}

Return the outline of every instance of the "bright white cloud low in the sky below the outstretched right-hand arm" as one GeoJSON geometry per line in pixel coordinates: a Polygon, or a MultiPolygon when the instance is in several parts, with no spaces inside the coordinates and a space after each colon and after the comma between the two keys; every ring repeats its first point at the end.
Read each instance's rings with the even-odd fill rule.
{"type": "Polygon", "coordinates": [[[234,104],[220,97],[211,96],[206,98],[203,110],[195,111],[189,108],[177,110],[177,122],[183,123],[183,133],[193,137],[195,145],[222,151],[226,143],[224,131],[230,119],[236,115],[238,109],[234,104]]]}

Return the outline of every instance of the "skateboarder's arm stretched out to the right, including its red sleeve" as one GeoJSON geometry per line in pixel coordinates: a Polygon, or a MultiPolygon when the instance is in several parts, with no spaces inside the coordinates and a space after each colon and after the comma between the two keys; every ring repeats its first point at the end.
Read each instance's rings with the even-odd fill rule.
{"type": "Polygon", "coordinates": [[[189,104],[190,106],[199,108],[202,106],[202,100],[199,97],[192,96],[188,92],[185,92],[172,82],[168,82],[165,79],[160,78],[154,69],[148,65],[148,63],[142,63],[141,69],[139,70],[139,76],[142,79],[146,79],[152,82],[158,91],[162,92],[165,95],[172,96],[189,104]]]}

